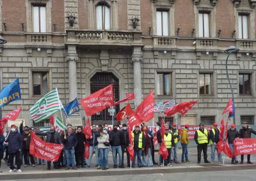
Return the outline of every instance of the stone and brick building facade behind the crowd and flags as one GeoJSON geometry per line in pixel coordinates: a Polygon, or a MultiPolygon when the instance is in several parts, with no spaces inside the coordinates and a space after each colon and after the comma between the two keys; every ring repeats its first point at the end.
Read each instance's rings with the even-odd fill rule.
{"type": "MultiPolygon", "coordinates": [[[[0,34],[8,41],[0,47],[1,87],[19,78],[22,94],[22,101],[4,106],[3,115],[22,105],[19,119],[36,126],[28,110],[52,88],[58,87],[65,105],[114,83],[116,101],[134,92],[133,107],[152,89],[156,101],[198,99],[185,116],[166,120],[220,122],[231,98],[224,51],[233,45],[240,49],[228,60],[236,123],[254,124],[255,0],[0,0],[0,5],[0,34]]],[[[96,123],[111,119],[109,109],[92,117],[96,123]]],[[[81,121],[80,115],[67,121],[72,120],[81,121]]]]}

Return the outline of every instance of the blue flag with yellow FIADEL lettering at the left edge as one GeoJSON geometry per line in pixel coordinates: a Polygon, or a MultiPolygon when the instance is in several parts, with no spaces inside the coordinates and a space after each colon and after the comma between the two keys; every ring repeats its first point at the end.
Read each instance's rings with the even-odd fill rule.
{"type": "Polygon", "coordinates": [[[12,83],[6,85],[0,92],[0,108],[8,105],[12,101],[20,99],[20,83],[19,78],[16,78],[12,83]]]}

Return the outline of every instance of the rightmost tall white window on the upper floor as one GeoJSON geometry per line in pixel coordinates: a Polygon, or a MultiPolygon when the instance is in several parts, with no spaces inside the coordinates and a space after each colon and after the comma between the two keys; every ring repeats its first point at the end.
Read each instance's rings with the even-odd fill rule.
{"type": "Polygon", "coordinates": [[[248,39],[248,15],[238,15],[238,38],[248,39]]]}

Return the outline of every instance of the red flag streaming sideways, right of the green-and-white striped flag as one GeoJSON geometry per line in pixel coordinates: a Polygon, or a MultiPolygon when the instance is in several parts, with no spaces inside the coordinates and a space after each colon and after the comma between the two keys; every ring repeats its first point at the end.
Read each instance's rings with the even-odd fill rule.
{"type": "Polygon", "coordinates": [[[171,115],[179,112],[182,115],[184,115],[197,103],[197,101],[198,100],[196,100],[196,101],[186,101],[186,102],[179,103],[179,104],[173,106],[172,108],[170,108],[168,110],[165,110],[164,114],[166,114],[167,116],[171,116],[171,115]]]}

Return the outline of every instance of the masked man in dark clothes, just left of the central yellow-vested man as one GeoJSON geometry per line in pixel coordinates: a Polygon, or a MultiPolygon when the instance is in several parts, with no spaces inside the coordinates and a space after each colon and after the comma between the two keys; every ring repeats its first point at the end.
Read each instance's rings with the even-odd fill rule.
{"type": "Polygon", "coordinates": [[[122,131],[121,131],[121,148],[122,148],[122,166],[124,166],[124,152],[126,150],[126,156],[127,156],[127,167],[131,166],[130,162],[130,156],[129,152],[127,151],[127,147],[129,146],[129,133],[127,129],[127,125],[122,125],[122,131]]]}

